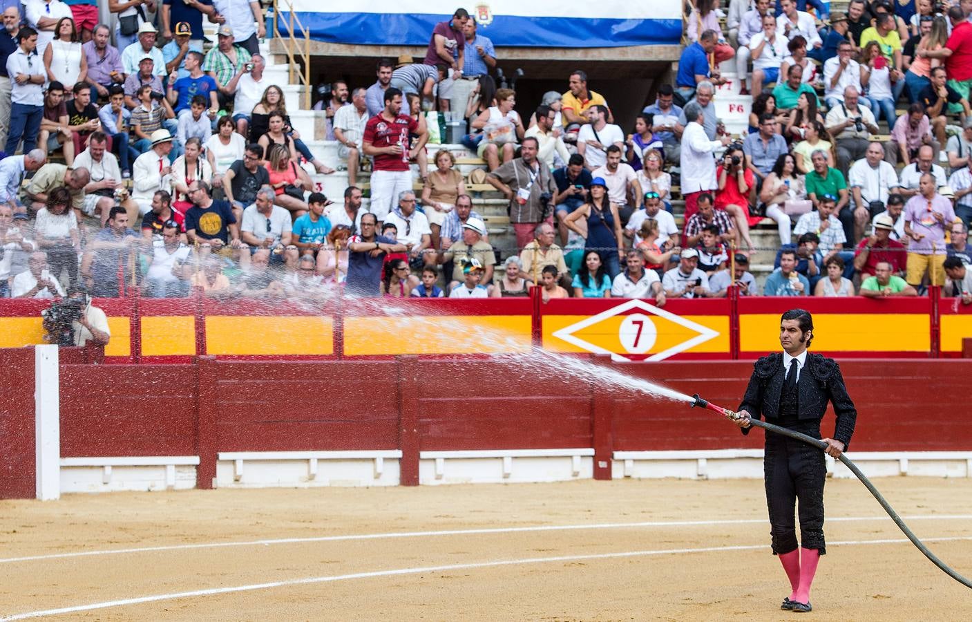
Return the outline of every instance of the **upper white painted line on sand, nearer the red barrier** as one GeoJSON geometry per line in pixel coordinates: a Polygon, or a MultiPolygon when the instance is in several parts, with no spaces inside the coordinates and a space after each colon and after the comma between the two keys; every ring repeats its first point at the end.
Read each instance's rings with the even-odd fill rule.
{"type": "MultiPolygon", "coordinates": [[[[972,514],[920,514],[902,517],[905,521],[934,521],[934,520],[970,520],[972,514]]],[[[886,515],[881,516],[845,516],[828,518],[828,523],[842,523],[851,521],[880,521],[890,520],[886,515]]],[[[713,525],[768,525],[768,519],[722,519],[708,521],[644,521],[640,523],[595,523],[588,525],[536,525],[533,527],[497,527],[489,529],[442,530],[434,532],[393,532],[386,534],[349,534],[345,536],[315,536],[315,537],[283,537],[275,539],[244,540],[239,542],[198,542],[195,544],[167,544],[161,546],[141,546],[137,548],[119,548],[94,551],[75,551],[73,553],[51,553],[48,555],[30,555],[26,557],[10,557],[0,559],[0,564],[15,562],[33,562],[37,560],[54,560],[70,557],[91,557],[98,555],[121,555],[125,553],[154,553],[158,551],[181,551],[200,548],[223,548],[229,546],[269,546],[271,544],[300,544],[306,542],[341,542],[347,540],[371,540],[399,537],[438,537],[438,536],[477,536],[483,534],[517,534],[525,532],[559,532],[572,530],[599,529],[640,529],[644,527],[705,527],[713,525]]]]}

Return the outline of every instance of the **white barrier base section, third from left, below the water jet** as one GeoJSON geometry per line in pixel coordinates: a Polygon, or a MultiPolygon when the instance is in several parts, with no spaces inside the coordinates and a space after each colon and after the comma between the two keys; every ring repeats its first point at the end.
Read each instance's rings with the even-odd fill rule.
{"type": "Polygon", "coordinates": [[[419,483],[503,484],[557,482],[594,477],[594,450],[516,449],[424,451],[419,483]]]}

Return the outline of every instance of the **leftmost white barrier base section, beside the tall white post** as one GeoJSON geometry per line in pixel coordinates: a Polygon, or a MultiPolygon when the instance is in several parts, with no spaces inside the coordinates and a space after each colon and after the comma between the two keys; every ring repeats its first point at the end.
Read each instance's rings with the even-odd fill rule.
{"type": "Polygon", "coordinates": [[[191,490],[198,464],[195,456],[62,458],[60,487],[64,493],[191,490]]]}

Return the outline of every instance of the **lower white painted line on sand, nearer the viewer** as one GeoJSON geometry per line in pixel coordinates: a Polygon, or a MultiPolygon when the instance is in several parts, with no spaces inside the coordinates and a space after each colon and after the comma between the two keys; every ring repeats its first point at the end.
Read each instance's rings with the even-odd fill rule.
{"type": "MultiPolygon", "coordinates": [[[[967,537],[928,537],[925,542],[948,542],[955,540],[972,540],[972,536],[967,537]]],[[[844,540],[828,542],[831,546],[847,546],[857,544],[901,544],[908,543],[906,538],[885,538],[877,540],[844,540]]],[[[366,579],[378,576],[400,576],[404,574],[421,574],[423,572],[444,572],[449,570],[475,570],[483,568],[497,568],[501,566],[524,566],[527,564],[551,564],[555,562],[578,562],[585,560],[608,560],[626,557],[646,557],[651,555],[678,555],[686,553],[716,553],[725,551],[748,551],[755,549],[765,549],[768,544],[735,545],[735,546],[707,546],[701,548],[672,548],[654,551],[623,551],[618,553],[597,553],[590,555],[562,555],[557,557],[533,557],[519,560],[498,560],[495,562],[477,562],[472,564],[449,564],[444,566],[426,566],[418,568],[402,568],[396,570],[374,570],[371,572],[354,572],[351,574],[334,574],[330,576],[310,576],[301,579],[287,579],[284,581],[271,581],[268,583],[253,583],[250,585],[236,585],[232,587],[217,587],[208,590],[192,590],[191,592],[173,592],[170,594],[156,594],[154,596],[143,596],[134,599],[121,599],[118,601],[105,601],[102,603],[91,603],[90,605],[65,606],[55,609],[43,609],[39,611],[25,611],[16,613],[4,618],[0,622],[12,620],[24,620],[27,618],[39,618],[50,615],[60,615],[62,613],[77,613],[79,611],[91,611],[94,609],[106,609],[114,606],[142,605],[145,603],[157,603],[159,601],[174,601],[176,599],[187,599],[200,596],[215,596],[219,594],[232,594],[235,592],[252,592],[255,590],[267,590],[277,587],[290,587],[295,585],[308,585],[312,583],[332,583],[335,581],[347,581],[351,579],[366,579]]]]}

